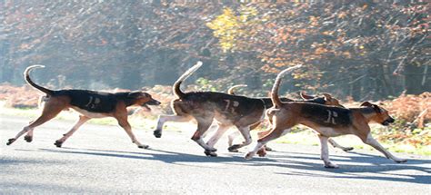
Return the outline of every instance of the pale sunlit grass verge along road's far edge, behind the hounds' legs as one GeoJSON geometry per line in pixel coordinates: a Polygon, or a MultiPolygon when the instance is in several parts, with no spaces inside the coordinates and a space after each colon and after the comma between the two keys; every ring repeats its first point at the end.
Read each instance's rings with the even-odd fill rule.
{"type": "MultiPolygon", "coordinates": [[[[23,116],[29,118],[35,118],[39,116],[40,110],[38,109],[15,109],[15,108],[6,108],[2,104],[0,104],[0,112],[5,115],[14,115],[14,116],[23,116]]],[[[65,121],[76,121],[77,114],[73,111],[61,112],[55,119],[65,120],[65,121]]],[[[154,130],[155,129],[155,117],[144,118],[141,116],[130,116],[129,122],[133,126],[134,129],[144,129],[145,131],[154,130]]],[[[102,118],[102,119],[93,119],[88,123],[101,124],[101,125],[117,125],[117,122],[113,118],[102,118]]],[[[379,128],[372,126],[373,129],[379,128]]],[[[428,127],[429,128],[429,127],[428,127]]],[[[175,122],[168,123],[164,127],[164,131],[173,131],[173,132],[193,132],[195,130],[195,124],[192,122],[175,122]]],[[[372,132],[378,132],[373,131],[372,132]]],[[[256,132],[252,133],[256,137],[256,132]]],[[[378,137],[377,134],[373,133],[375,137],[378,137]]],[[[239,140],[239,138],[238,138],[239,140]]],[[[365,150],[374,150],[372,147],[363,143],[359,138],[354,135],[345,135],[334,138],[339,144],[346,147],[354,147],[355,149],[365,149],[365,150]]],[[[319,140],[317,135],[312,130],[306,127],[296,127],[293,132],[286,134],[285,136],[276,140],[279,143],[293,143],[293,144],[305,144],[305,145],[319,145],[319,140]]],[[[395,152],[404,152],[404,153],[412,153],[419,155],[428,155],[431,156],[431,146],[414,146],[411,144],[403,144],[403,143],[392,143],[390,141],[380,141],[384,147],[386,147],[389,151],[395,152]]]]}

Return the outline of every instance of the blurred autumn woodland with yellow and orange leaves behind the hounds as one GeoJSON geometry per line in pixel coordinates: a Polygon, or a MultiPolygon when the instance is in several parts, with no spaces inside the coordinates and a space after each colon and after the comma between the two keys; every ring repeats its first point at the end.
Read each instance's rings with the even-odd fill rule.
{"type": "Polygon", "coordinates": [[[25,67],[41,63],[40,83],[135,90],[172,84],[202,60],[194,80],[217,91],[246,83],[265,95],[278,71],[302,63],[284,90],[356,100],[421,93],[431,90],[429,10],[404,0],[0,0],[0,82],[24,83],[25,67]]]}

